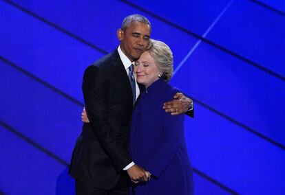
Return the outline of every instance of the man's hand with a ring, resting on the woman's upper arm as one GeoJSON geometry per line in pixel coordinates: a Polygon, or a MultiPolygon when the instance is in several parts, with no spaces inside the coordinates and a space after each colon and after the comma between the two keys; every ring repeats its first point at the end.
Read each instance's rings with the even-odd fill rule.
{"type": "Polygon", "coordinates": [[[173,98],[174,100],[163,104],[165,112],[171,113],[171,115],[180,115],[189,110],[192,102],[190,98],[185,97],[182,93],[176,93],[173,98]]]}

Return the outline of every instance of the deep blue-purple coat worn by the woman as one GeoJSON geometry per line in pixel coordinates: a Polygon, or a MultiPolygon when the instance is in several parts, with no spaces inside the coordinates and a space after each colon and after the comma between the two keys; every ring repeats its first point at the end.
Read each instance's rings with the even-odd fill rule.
{"type": "Polygon", "coordinates": [[[142,91],[134,108],[130,156],[151,172],[151,181],[135,185],[139,194],[193,194],[192,168],[184,140],[184,115],[165,113],[163,103],[179,92],[161,78],[142,91]]]}

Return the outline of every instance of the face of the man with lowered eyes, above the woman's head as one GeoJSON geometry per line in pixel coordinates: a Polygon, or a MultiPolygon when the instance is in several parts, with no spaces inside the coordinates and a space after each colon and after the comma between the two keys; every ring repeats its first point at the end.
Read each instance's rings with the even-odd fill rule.
{"type": "Polygon", "coordinates": [[[118,30],[117,35],[120,40],[120,49],[133,62],[140,58],[142,52],[147,49],[150,26],[145,23],[132,22],[125,32],[118,30]]]}

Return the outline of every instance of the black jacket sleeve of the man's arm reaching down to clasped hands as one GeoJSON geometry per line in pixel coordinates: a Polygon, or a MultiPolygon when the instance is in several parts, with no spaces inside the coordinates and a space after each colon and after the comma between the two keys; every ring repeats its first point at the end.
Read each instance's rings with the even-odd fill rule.
{"type": "Polygon", "coordinates": [[[107,101],[111,83],[99,67],[90,66],[85,70],[82,89],[85,109],[101,147],[114,163],[116,170],[123,170],[131,163],[131,159],[123,146],[118,144],[114,130],[108,122],[107,101]]]}

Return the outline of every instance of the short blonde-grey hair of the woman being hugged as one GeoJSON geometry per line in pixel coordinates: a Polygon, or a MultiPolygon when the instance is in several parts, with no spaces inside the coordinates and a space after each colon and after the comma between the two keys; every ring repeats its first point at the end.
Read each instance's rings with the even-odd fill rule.
{"type": "Polygon", "coordinates": [[[154,58],[158,69],[162,71],[162,78],[165,82],[168,82],[173,73],[173,54],[171,49],[162,41],[151,39],[147,51],[154,58]]]}

